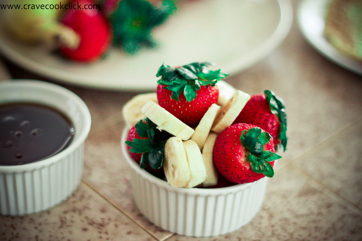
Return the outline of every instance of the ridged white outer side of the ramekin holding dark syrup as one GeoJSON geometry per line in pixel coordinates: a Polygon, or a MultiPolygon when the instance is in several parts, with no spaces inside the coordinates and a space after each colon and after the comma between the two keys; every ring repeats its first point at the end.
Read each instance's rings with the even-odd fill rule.
{"type": "Polygon", "coordinates": [[[62,202],[79,186],[83,163],[84,143],[50,165],[0,173],[0,214],[30,214],[62,202]]]}

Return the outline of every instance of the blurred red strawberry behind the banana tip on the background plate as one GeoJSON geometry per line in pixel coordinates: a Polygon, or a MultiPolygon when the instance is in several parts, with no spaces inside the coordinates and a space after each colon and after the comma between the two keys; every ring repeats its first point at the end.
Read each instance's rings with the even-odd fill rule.
{"type": "MultiPolygon", "coordinates": [[[[79,4],[82,8],[88,4],[93,5],[89,0],[81,0],[79,4]]],[[[94,61],[108,49],[111,40],[110,28],[97,9],[70,9],[65,13],[62,23],[80,35],[80,44],[75,50],[66,46],[60,47],[60,52],[69,59],[94,61]]]]}

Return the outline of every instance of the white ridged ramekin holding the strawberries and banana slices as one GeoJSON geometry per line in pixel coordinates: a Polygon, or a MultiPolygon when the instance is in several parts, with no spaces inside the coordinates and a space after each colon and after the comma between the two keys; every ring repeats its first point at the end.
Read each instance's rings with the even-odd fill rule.
{"type": "Polygon", "coordinates": [[[268,177],[226,188],[173,188],[129,156],[128,131],[123,130],[121,147],[131,167],[133,197],[142,214],[157,226],[187,236],[216,236],[249,223],[260,209],[268,177]]]}

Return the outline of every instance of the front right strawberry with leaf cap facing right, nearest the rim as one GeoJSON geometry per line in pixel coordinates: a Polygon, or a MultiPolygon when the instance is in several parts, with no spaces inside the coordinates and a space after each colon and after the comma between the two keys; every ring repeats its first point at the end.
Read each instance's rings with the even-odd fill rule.
{"type": "Polygon", "coordinates": [[[214,162],[229,181],[247,183],[274,175],[273,139],[256,125],[238,123],[227,127],[216,138],[214,162]]]}

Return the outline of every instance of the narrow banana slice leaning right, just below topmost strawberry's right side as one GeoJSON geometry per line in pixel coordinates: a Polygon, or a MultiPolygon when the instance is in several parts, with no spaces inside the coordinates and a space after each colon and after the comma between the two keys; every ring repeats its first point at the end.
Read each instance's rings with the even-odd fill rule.
{"type": "Polygon", "coordinates": [[[197,125],[194,134],[191,136],[191,140],[197,143],[201,151],[219,110],[220,106],[212,104],[202,117],[200,123],[197,125]]]}

